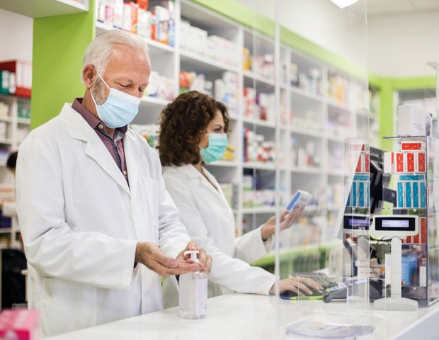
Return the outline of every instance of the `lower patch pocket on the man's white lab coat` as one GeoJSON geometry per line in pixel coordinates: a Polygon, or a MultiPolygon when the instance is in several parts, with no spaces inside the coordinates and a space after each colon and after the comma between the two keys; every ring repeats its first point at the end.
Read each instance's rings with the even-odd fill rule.
{"type": "Polygon", "coordinates": [[[57,278],[42,278],[41,330],[60,334],[96,325],[96,288],[57,278]],[[66,313],[66,308],[69,313],[66,313]]]}

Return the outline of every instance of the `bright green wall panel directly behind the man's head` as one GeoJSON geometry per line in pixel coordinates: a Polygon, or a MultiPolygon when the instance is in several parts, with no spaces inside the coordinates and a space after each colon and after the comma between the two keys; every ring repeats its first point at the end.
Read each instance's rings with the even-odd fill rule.
{"type": "Polygon", "coordinates": [[[30,128],[58,115],[64,103],[84,96],[82,56],[94,34],[93,11],[34,19],[30,128]]]}

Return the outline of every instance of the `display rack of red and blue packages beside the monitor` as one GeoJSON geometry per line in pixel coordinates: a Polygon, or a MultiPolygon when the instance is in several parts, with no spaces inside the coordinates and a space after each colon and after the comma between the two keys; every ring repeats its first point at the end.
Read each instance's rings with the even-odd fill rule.
{"type": "Polygon", "coordinates": [[[396,159],[397,164],[389,173],[392,176],[389,186],[397,193],[397,204],[392,208],[384,205],[383,214],[417,215],[419,220],[418,234],[402,240],[401,294],[418,300],[419,305],[431,305],[439,300],[439,140],[422,136],[387,139],[394,142],[395,157],[403,156],[396,159]],[[404,144],[421,147],[407,149],[402,147],[404,144]]]}

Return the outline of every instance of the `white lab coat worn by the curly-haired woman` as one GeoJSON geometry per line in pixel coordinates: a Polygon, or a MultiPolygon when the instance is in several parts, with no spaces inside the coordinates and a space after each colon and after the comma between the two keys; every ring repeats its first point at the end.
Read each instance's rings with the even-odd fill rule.
{"type": "MultiPolygon", "coordinates": [[[[261,227],[235,237],[232,209],[214,176],[203,168],[205,176],[193,165],[164,168],[166,189],[171,194],[190,238],[213,259],[209,279],[209,297],[230,293],[268,294],[275,276],[262,268],[251,267],[271,249],[271,239],[262,241],[261,227]],[[236,259],[235,259],[236,258],[236,259]]],[[[175,286],[164,282],[164,307],[176,305],[175,286]]]]}

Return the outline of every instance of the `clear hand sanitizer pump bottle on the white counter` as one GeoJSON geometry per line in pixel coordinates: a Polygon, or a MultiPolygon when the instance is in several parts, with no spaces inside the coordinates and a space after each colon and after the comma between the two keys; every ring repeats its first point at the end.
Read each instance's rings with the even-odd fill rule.
{"type": "MultiPolygon", "coordinates": [[[[185,251],[195,263],[198,250],[185,251]]],[[[207,312],[207,275],[202,271],[182,274],[179,279],[178,302],[183,319],[203,319],[207,312]]]]}

